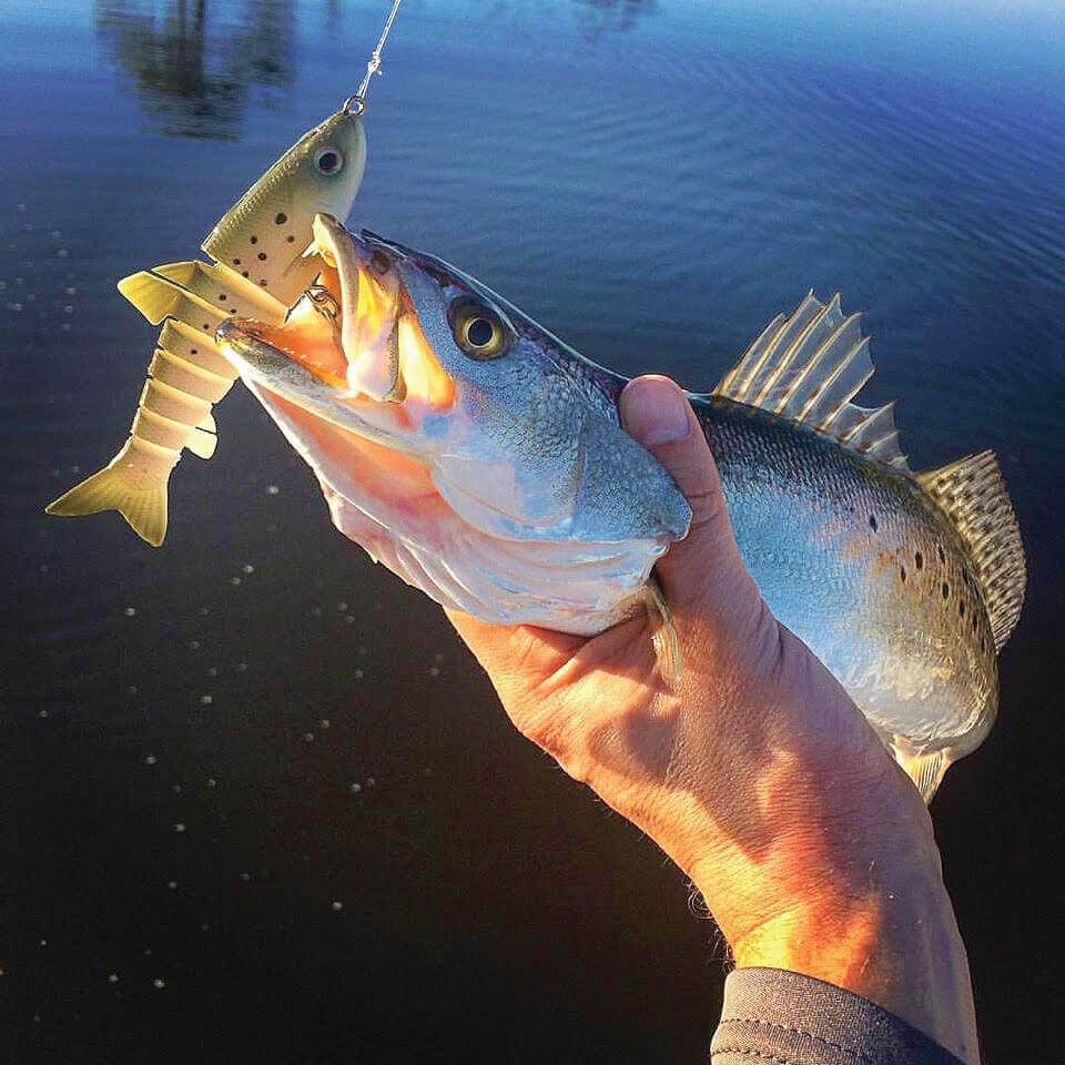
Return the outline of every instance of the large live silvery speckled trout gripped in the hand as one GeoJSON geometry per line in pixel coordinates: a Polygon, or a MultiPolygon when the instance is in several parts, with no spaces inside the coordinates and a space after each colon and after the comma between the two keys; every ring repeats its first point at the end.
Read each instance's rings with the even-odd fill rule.
{"type": "MultiPolygon", "coordinates": [[[[333,521],[447,607],[594,633],[642,608],[690,508],[621,428],[626,379],[432,255],[334,219],[283,326],[220,348],[318,477],[333,521]]],[[[691,402],[774,615],[931,799],[994,720],[1024,555],[990,452],[914,474],[859,315],[808,294],[691,402]]]]}

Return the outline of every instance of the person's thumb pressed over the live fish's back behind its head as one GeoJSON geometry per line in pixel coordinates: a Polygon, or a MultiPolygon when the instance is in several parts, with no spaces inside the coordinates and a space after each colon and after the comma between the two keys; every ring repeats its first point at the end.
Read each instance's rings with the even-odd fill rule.
{"type": "Polygon", "coordinates": [[[686,393],[657,374],[630,381],[621,393],[621,420],[677,483],[691,506],[691,528],[657,566],[670,607],[678,612],[760,605],[732,536],[721,478],[686,393]]]}

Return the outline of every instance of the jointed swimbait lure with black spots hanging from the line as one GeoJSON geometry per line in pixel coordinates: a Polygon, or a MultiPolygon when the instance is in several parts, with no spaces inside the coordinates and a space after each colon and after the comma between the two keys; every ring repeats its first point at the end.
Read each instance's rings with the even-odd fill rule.
{"type": "Polygon", "coordinates": [[[346,217],[366,164],[358,114],[345,105],[308,130],[222,216],[202,244],[212,262],[168,263],[119,282],[153,325],[163,324],[125,444],[48,514],[118,510],[153,547],[166,535],[166,488],[183,450],[210,458],[212,406],[236,379],[214,341],[233,314],[281,323],[321,264],[305,252],[320,211],[346,217]]]}

